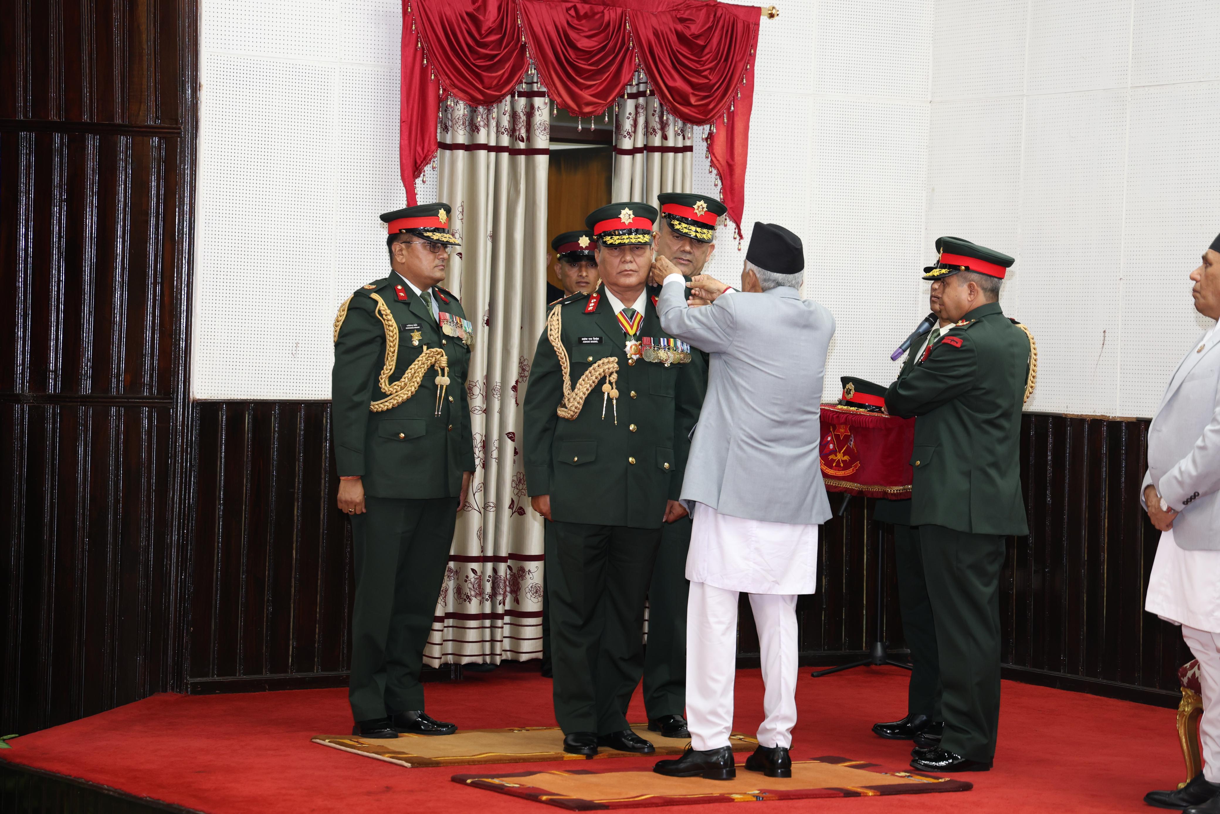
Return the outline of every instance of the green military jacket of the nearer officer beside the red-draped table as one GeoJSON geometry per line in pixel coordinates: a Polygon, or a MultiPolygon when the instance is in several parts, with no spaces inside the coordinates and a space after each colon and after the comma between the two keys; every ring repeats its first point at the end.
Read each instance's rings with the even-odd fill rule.
{"type": "Polygon", "coordinates": [[[1030,339],[1000,310],[980,305],[922,364],[886,392],[892,415],[919,416],[910,525],[978,535],[1026,535],[1021,405],[1030,339]]]}

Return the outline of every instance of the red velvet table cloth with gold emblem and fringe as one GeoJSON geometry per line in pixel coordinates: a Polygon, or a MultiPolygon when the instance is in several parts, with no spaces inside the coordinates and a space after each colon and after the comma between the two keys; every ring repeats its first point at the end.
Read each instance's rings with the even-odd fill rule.
{"type": "Polygon", "coordinates": [[[914,443],[915,419],[824,404],[820,458],[826,491],[909,498],[914,443]]]}

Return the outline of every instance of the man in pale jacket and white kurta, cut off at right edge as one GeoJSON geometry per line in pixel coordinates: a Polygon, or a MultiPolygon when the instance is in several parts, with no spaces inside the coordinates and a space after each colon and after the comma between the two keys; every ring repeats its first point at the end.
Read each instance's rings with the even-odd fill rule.
{"type": "MultiPolygon", "coordinates": [[[[1191,272],[1194,308],[1220,319],[1220,237],[1191,272]]],[[[664,319],[662,319],[664,323],[664,319]]],[[[1213,325],[1177,366],[1148,428],[1141,502],[1161,531],[1144,609],[1182,626],[1199,660],[1203,771],[1144,802],[1220,814],[1220,331],[1213,325]]]]}

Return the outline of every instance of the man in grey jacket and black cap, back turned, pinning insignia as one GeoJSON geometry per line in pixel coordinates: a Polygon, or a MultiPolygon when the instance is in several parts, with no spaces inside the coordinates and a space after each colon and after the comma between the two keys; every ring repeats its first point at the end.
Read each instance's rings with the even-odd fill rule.
{"type": "Polygon", "coordinates": [[[817,525],[831,516],[819,458],[826,348],[834,317],[800,299],[800,238],[755,223],[742,290],[695,277],[709,305],[689,308],[665,258],[658,312],[671,336],[711,354],[708,394],[691,442],[682,503],[691,510],[687,718],[691,749],[662,760],[671,776],[736,775],[737,598],[750,594],[766,719],[745,768],[791,777],[797,722],[797,594],[816,588],[817,525]],[[710,288],[710,290],[709,290],[710,288]]]}

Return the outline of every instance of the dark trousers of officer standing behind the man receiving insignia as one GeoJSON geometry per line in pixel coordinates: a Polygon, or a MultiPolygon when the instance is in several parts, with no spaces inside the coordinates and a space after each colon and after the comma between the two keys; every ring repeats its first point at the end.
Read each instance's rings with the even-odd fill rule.
{"type": "Polygon", "coordinates": [[[661,526],[661,547],[648,586],[644,709],[648,718],[686,714],[686,556],[691,515],[661,526]]]}

